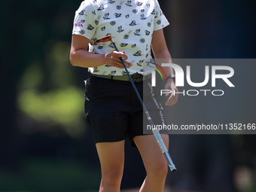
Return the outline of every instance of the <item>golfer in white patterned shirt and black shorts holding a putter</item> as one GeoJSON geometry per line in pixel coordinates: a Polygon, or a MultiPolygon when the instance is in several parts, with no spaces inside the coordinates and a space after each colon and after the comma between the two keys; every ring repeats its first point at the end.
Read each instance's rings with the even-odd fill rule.
{"type": "MultiPolygon", "coordinates": [[[[101,163],[100,192],[120,191],[125,139],[139,149],[147,172],[139,191],[163,191],[167,163],[154,135],[143,134],[145,114],[120,57],[141,96],[148,93],[143,102],[151,109],[154,123],[163,124],[159,112],[163,108],[151,97],[155,94],[150,84],[154,69],[148,61],[151,48],[156,59],[171,61],[163,35],[168,24],[157,0],[85,0],[75,12],[70,61],[90,72],[84,105],[101,163]],[[111,35],[120,52],[114,51],[111,41],[93,44],[106,35],[111,35]],[[145,87],[143,82],[148,82],[145,87]]],[[[165,89],[177,92],[172,69],[164,70],[170,77],[165,89]]],[[[171,95],[165,104],[174,105],[177,100],[177,94],[171,95]]],[[[162,137],[168,147],[169,136],[162,137]]]]}

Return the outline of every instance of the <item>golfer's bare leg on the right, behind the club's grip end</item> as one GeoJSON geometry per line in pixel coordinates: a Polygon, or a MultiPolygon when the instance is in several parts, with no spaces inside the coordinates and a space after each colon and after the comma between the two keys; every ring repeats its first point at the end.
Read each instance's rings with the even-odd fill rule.
{"type": "MultiPolygon", "coordinates": [[[[168,149],[169,136],[161,135],[168,149]]],[[[136,136],[134,139],[147,172],[139,192],[163,192],[168,166],[154,135],[136,136]]]]}

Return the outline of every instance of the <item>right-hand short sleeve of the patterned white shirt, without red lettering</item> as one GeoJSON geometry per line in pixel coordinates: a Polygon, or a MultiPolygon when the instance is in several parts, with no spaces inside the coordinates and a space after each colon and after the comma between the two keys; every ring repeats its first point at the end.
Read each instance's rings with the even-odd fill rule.
{"type": "Polygon", "coordinates": [[[159,29],[163,29],[164,27],[169,25],[168,20],[166,19],[165,15],[163,14],[163,11],[160,8],[160,5],[157,1],[155,1],[155,8],[154,8],[154,31],[157,31],[159,29]]]}

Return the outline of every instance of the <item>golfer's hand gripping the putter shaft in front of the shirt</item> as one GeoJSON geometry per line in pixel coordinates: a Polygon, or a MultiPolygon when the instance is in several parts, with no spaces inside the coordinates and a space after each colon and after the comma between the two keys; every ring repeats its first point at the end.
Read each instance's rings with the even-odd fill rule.
{"type": "Polygon", "coordinates": [[[132,62],[127,62],[126,59],[128,59],[128,56],[126,56],[125,52],[117,52],[113,51],[112,53],[106,53],[105,54],[105,63],[107,63],[109,66],[117,67],[119,69],[123,69],[123,63],[120,60],[120,57],[123,58],[123,62],[126,67],[133,66],[132,62]]]}

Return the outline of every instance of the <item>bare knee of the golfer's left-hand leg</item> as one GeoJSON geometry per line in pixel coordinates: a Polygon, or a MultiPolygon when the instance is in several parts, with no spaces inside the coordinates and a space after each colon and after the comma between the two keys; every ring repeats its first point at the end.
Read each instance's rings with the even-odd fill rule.
{"type": "Polygon", "coordinates": [[[102,175],[102,182],[114,186],[120,184],[122,177],[122,169],[111,169],[111,171],[105,172],[105,174],[102,175]]]}

